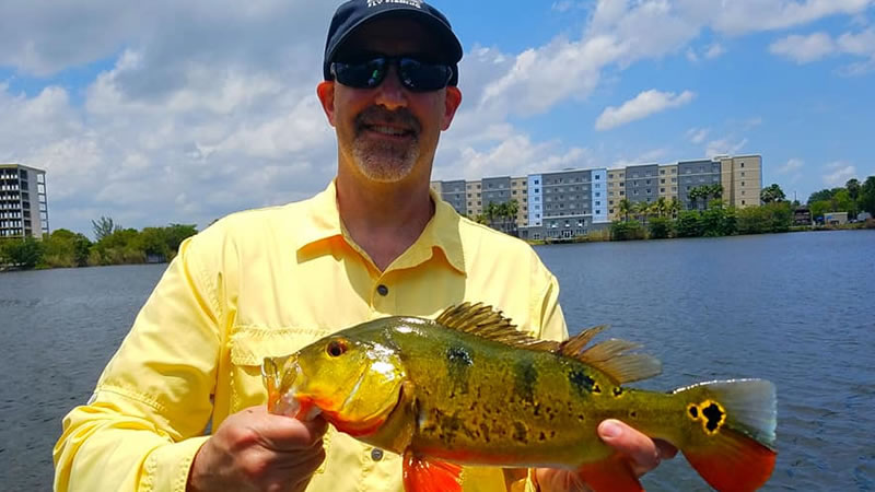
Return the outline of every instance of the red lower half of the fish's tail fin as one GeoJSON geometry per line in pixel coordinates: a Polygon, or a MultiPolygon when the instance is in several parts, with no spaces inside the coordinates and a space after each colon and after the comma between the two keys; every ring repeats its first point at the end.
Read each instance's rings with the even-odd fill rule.
{"type": "Polygon", "coordinates": [[[722,492],[757,490],[769,480],[775,452],[731,429],[712,437],[708,447],[682,449],[696,471],[722,492]]]}

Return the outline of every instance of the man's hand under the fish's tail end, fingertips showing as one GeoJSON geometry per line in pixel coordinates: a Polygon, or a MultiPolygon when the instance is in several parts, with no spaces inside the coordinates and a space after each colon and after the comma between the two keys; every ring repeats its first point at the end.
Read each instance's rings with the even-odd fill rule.
{"type": "MultiPolygon", "coordinates": [[[[677,449],[664,441],[653,441],[618,420],[598,424],[598,436],[608,446],[629,458],[632,471],[641,477],[663,459],[674,458],[677,449]]],[[[539,468],[536,477],[542,492],[586,492],[590,488],[568,470],[539,468]]]]}

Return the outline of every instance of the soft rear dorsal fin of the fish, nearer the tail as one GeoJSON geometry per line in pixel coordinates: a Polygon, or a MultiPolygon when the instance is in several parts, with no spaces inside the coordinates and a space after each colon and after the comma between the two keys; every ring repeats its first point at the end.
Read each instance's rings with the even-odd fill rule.
{"type": "Polygon", "coordinates": [[[559,353],[576,359],[614,378],[619,385],[646,379],[662,373],[662,364],[655,358],[642,353],[627,353],[640,349],[641,345],[626,340],[610,339],[586,345],[593,337],[607,329],[596,326],[581,331],[559,347],[559,353]]]}

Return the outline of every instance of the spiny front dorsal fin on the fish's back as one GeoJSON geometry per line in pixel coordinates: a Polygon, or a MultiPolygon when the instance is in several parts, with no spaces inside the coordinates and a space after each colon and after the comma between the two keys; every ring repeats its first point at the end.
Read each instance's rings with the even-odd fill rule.
{"type": "Polygon", "coordinates": [[[462,303],[447,307],[435,321],[454,330],[522,349],[555,351],[559,348],[559,342],[540,340],[517,330],[516,325],[500,311],[482,303],[462,303]]]}

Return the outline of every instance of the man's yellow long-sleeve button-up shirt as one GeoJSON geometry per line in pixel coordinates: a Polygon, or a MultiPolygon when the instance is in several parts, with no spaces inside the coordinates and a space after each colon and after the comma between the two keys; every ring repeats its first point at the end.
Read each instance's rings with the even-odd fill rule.
{"type": "MultiPolygon", "coordinates": [[[[382,272],[343,231],[334,184],[183,243],[89,403],[65,418],[55,489],[184,492],[209,429],[265,403],[265,356],[365,320],[471,301],[534,336],[565,338],[556,278],[534,250],[432,199],[421,236],[382,272]]],[[[332,430],[325,447],[308,491],[402,490],[398,456],[332,430]]],[[[504,490],[499,469],[463,477],[465,490],[504,490]]]]}

